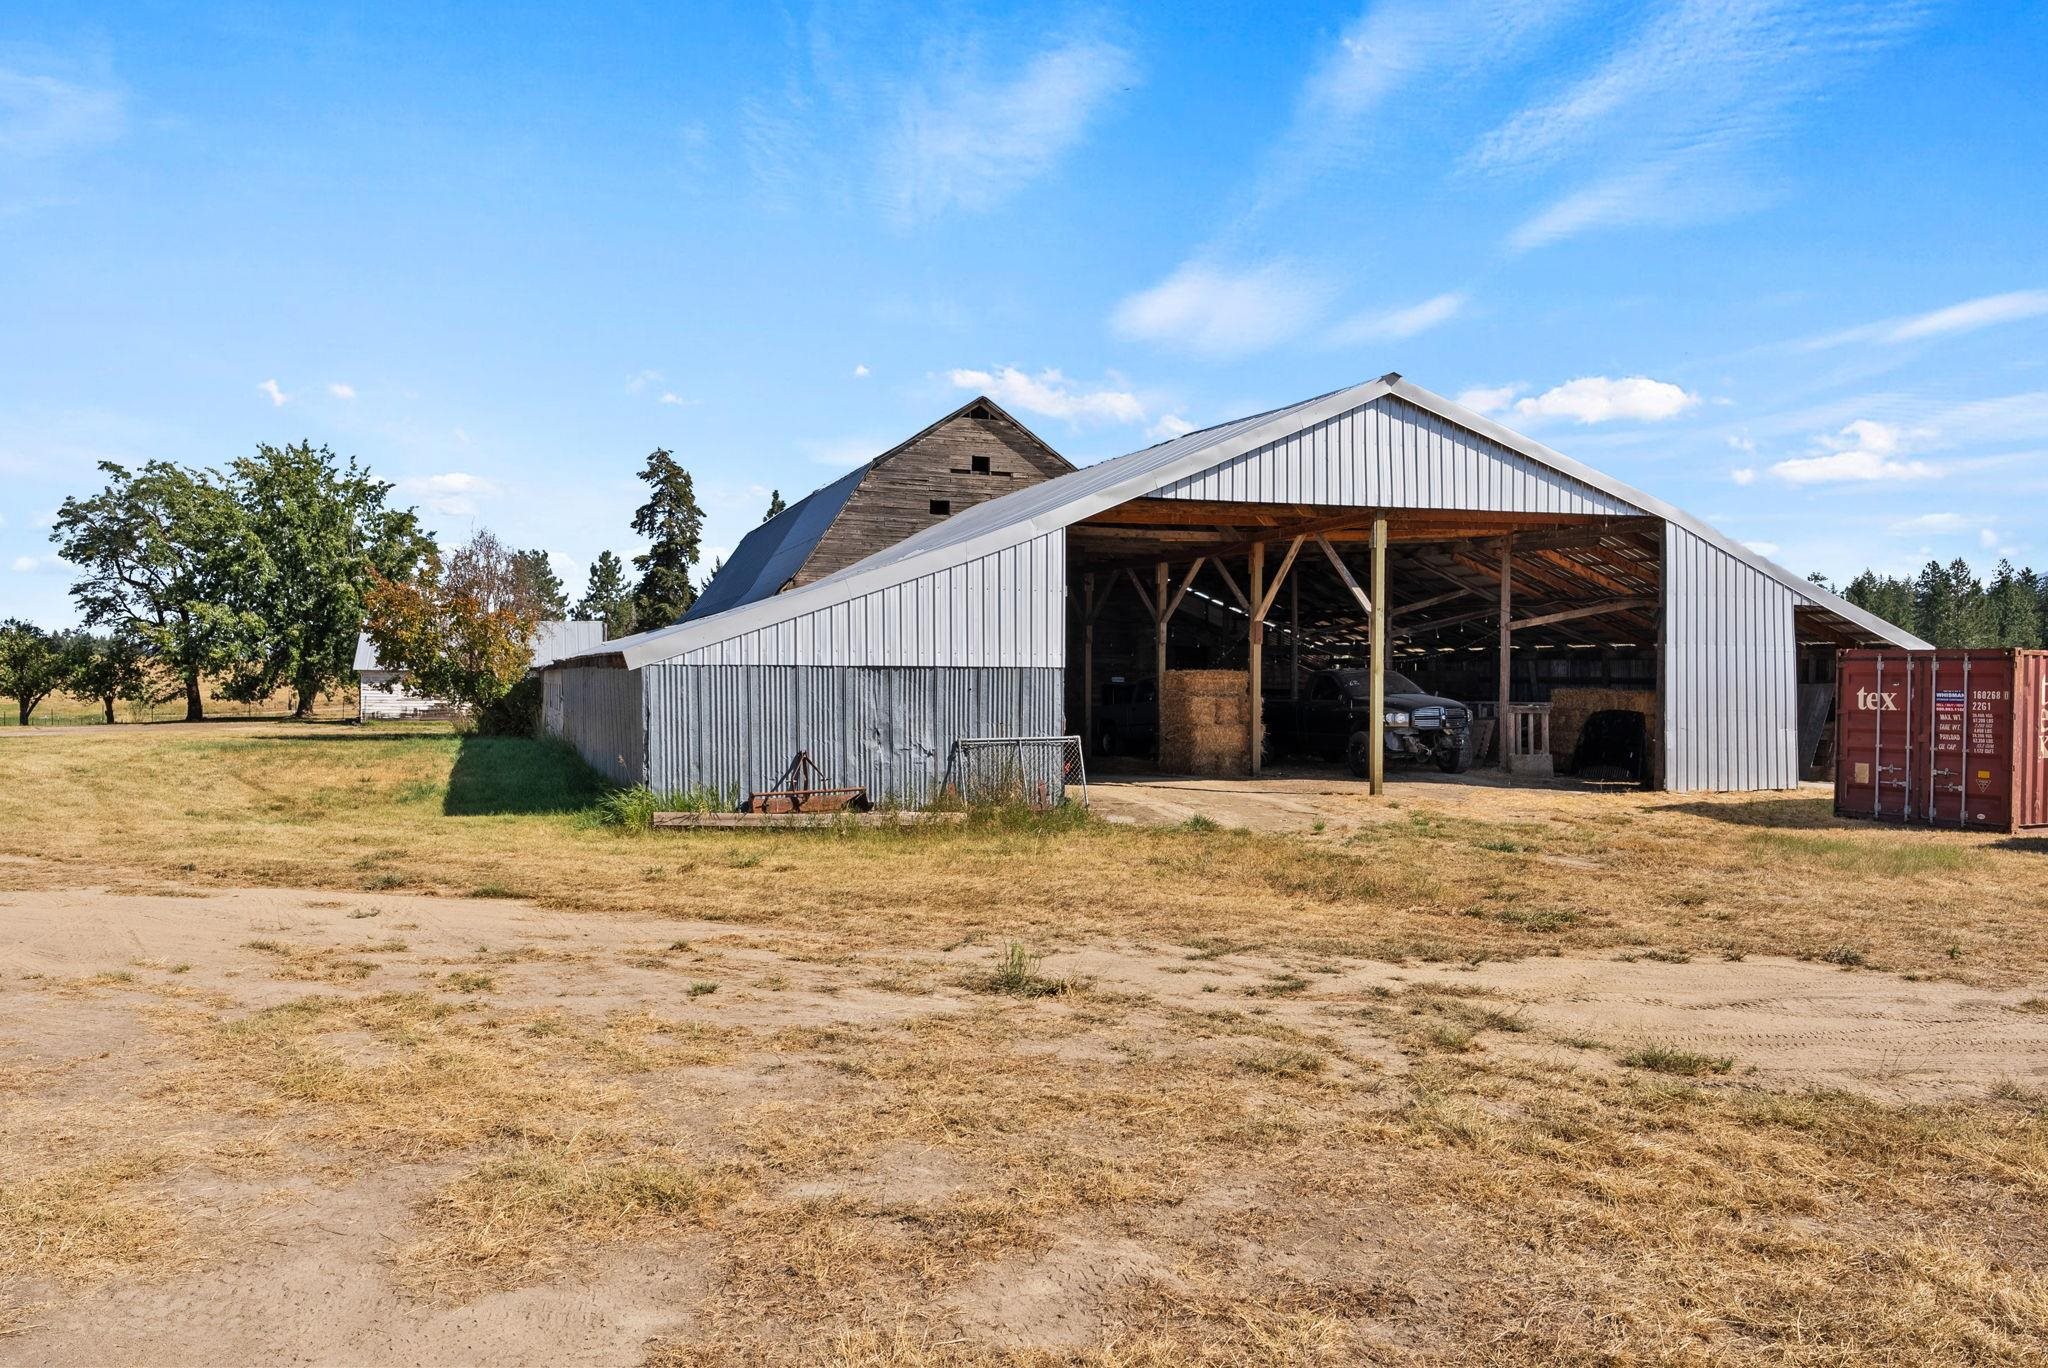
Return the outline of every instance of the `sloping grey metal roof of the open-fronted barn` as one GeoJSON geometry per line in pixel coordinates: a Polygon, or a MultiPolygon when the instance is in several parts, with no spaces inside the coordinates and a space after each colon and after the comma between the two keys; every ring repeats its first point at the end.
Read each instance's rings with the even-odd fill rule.
{"type": "MultiPolygon", "coordinates": [[[[604,655],[637,670],[641,666],[723,641],[737,633],[778,623],[793,614],[815,612],[829,604],[852,600],[860,594],[889,584],[899,584],[913,575],[961,565],[1034,537],[1061,530],[1098,512],[1116,508],[1118,504],[1155,494],[1171,494],[1176,485],[1190,481],[1190,477],[1202,475],[1204,471],[1217,471],[1247,453],[1257,453],[1260,448],[1282,442],[1294,434],[1315,428],[1317,424],[1386,397],[1401,399],[1425,414],[1436,416],[1452,428],[1462,428],[1464,432],[1499,444],[1516,459],[1526,461],[1532,473],[1561,475],[1573,485],[1581,485],[1587,494],[1604,498],[1614,512],[1649,514],[1692,532],[1700,541],[1714,545],[1729,557],[1747,563],[1751,569],[1784,586],[1784,590],[1792,594],[1794,602],[1825,608],[1858,625],[1876,639],[1892,641],[1903,647],[1925,647],[1925,643],[1911,633],[1905,633],[1898,627],[1892,627],[1890,623],[1823,590],[1806,578],[1767,561],[1733,537],[1700,522],[1692,514],[1642,494],[1612,475],[1604,475],[1602,471],[1581,465],[1579,461],[1573,461],[1542,442],[1503,428],[1491,418],[1475,414],[1444,395],[1411,385],[1399,375],[1386,375],[1376,381],[1366,381],[1364,385],[1337,389],[1313,399],[1303,399],[1300,403],[1270,410],[1266,414],[1253,414],[1214,428],[1188,432],[1186,436],[1178,436],[1169,442],[1159,442],[1124,457],[1077,469],[1071,475],[1061,475],[1059,479],[1049,479],[1044,483],[1018,489],[1016,494],[1006,494],[985,504],[977,504],[975,508],[954,514],[952,518],[907,537],[893,547],[877,551],[864,561],[858,561],[834,575],[768,600],[731,608],[727,612],[692,616],[674,627],[621,637],[618,641],[606,643],[604,655]]],[[[1456,508],[1458,504],[1444,502],[1434,506],[1456,508]]]]}

